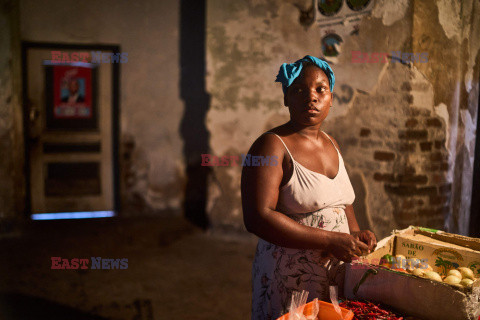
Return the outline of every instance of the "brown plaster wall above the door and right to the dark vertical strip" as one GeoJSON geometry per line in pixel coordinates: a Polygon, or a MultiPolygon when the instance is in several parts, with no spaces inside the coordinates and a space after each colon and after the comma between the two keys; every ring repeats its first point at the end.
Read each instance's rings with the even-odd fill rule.
{"type": "Polygon", "coordinates": [[[118,44],[124,215],[180,213],[179,1],[22,0],[24,40],[118,44]],[[72,14],[73,13],[73,14],[72,14]]]}

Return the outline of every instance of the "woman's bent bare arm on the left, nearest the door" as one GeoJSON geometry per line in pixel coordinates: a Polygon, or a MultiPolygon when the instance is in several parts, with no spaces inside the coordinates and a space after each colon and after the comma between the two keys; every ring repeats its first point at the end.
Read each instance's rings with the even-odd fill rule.
{"type": "Polygon", "coordinates": [[[284,150],[277,137],[266,134],[249,151],[252,157],[276,157],[278,164],[243,168],[242,207],[247,230],[282,247],[319,249],[344,261],[366,251],[367,246],[349,234],[304,226],[275,210],[286,161],[284,150]]]}

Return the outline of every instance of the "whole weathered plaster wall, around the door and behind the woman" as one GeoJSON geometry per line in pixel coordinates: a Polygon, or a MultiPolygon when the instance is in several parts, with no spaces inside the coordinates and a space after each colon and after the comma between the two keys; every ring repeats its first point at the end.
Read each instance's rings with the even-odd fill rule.
{"type": "MultiPolygon", "coordinates": [[[[90,3],[22,0],[22,39],[122,45],[129,53],[121,72],[122,204],[132,215],[178,213],[186,188],[179,133],[185,105],[179,92],[179,5],[147,0],[112,9],[95,2],[92,12],[90,3]],[[72,19],[65,18],[69,9],[76,12],[72,19]]],[[[274,83],[278,68],[306,54],[321,56],[321,39],[329,32],[315,23],[307,26],[309,3],[207,1],[210,153],[240,156],[260,134],[288,120],[281,86],[274,83]]],[[[340,143],[357,193],[359,221],[379,237],[410,223],[468,233],[479,6],[473,0],[376,0],[339,47],[334,107],[324,129],[340,143]],[[398,50],[428,52],[428,62],[351,62],[352,51],[398,50]]],[[[14,17],[9,11],[2,14],[5,21],[14,17]]],[[[15,31],[2,32],[9,37],[15,31]]],[[[18,70],[18,61],[9,60],[19,53],[11,50],[17,49],[1,51],[0,144],[20,151],[0,159],[2,217],[22,212],[24,194],[22,115],[19,93],[12,94],[20,77],[11,71],[18,70]],[[12,194],[20,200],[11,200],[12,194]]],[[[243,229],[240,173],[239,166],[212,167],[207,209],[213,228],[243,229]]]]}

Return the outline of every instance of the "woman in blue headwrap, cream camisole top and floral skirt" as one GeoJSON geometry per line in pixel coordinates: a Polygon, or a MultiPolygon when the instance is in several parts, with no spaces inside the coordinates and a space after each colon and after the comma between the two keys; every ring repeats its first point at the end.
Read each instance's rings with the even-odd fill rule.
{"type": "Polygon", "coordinates": [[[278,165],[242,172],[244,223],[260,238],[252,269],[254,320],[287,312],[293,291],[328,300],[329,285],[343,281],[340,261],[376,246],[371,231],[359,230],[339,147],[320,130],[332,107],[332,69],[306,56],[284,63],[276,81],[290,121],[260,136],[249,154],[276,156],[278,165]]]}

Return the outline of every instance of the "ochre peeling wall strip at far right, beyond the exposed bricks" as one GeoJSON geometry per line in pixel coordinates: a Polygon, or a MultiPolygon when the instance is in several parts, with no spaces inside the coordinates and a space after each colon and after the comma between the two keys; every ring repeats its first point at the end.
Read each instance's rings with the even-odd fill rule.
{"type": "Polygon", "coordinates": [[[480,79],[479,14],[478,1],[442,0],[436,6],[430,2],[414,2],[413,49],[428,51],[429,59],[432,57],[432,63],[419,64],[418,69],[433,85],[436,109],[447,107],[447,112],[442,114],[447,124],[452,194],[445,228],[460,234],[469,231],[474,183],[480,79]]]}

